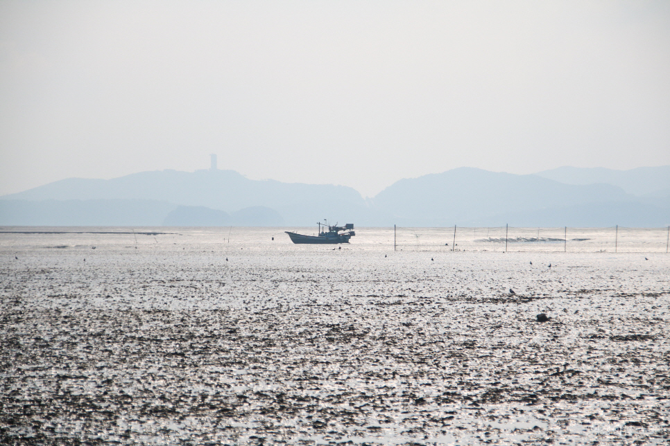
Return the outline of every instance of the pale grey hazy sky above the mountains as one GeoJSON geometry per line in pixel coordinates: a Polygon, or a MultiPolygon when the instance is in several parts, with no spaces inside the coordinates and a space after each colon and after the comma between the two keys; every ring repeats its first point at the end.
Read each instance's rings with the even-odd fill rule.
{"type": "Polygon", "coordinates": [[[670,1],[0,0],[0,195],[670,164],[670,1]]]}

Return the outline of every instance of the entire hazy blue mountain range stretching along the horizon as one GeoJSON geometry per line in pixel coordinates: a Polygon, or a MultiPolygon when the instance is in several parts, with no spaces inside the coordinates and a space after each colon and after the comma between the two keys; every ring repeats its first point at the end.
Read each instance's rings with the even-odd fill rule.
{"type": "Polygon", "coordinates": [[[346,186],[247,179],[233,170],[70,178],[0,197],[4,226],[666,226],[670,166],[563,167],[535,175],[457,168],[401,179],[371,199],[346,186]]]}

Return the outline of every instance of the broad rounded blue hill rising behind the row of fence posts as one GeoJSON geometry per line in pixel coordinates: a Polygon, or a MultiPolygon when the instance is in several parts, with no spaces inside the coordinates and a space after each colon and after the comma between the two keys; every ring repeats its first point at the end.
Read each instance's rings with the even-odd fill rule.
{"type": "Polygon", "coordinates": [[[475,168],[402,179],[372,199],[372,208],[372,224],[381,226],[610,226],[617,224],[615,215],[634,226],[670,221],[667,209],[642,206],[617,186],[576,186],[475,168]]]}

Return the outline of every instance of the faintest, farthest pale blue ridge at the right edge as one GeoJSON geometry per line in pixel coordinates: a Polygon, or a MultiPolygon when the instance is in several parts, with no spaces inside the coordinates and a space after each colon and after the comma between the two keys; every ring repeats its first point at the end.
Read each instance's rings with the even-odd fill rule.
{"type": "Polygon", "coordinates": [[[619,186],[633,195],[647,195],[670,188],[670,166],[642,167],[630,170],[564,166],[544,170],[535,175],[565,184],[611,184],[612,186],[619,186]]]}

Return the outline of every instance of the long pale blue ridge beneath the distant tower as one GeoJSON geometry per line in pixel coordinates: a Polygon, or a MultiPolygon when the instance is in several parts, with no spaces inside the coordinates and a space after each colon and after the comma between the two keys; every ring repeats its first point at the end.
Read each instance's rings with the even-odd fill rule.
{"type": "MultiPolygon", "coordinates": [[[[355,220],[366,209],[365,200],[353,188],[332,184],[257,181],[247,179],[233,170],[160,170],[108,180],[69,178],[2,198],[31,201],[151,199],[180,206],[204,206],[229,214],[262,206],[277,211],[278,217],[268,217],[270,220],[283,221],[291,226],[311,225],[323,218],[355,220]]],[[[201,211],[191,211],[194,212],[193,219],[200,212],[198,215],[205,219],[203,222],[210,221],[201,211]]],[[[164,217],[166,215],[162,216],[161,222],[164,217]]],[[[193,219],[196,222],[197,219],[193,219]]]]}

